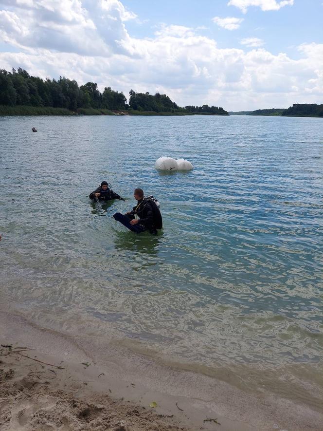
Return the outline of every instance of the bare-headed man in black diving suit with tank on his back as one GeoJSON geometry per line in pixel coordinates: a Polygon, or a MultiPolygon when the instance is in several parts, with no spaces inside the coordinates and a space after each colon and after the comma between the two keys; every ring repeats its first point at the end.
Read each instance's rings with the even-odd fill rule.
{"type": "Polygon", "coordinates": [[[132,211],[125,215],[117,212],[113,218],[122,223],[133,232],[144,232],[148,230],[152,234],[157,234],[157,229],[162,228],[162,214],[155,202],[149,198],[144,198],[144,191],[141,188],[135,188],[134,198],[137,205],[132,211]]]}

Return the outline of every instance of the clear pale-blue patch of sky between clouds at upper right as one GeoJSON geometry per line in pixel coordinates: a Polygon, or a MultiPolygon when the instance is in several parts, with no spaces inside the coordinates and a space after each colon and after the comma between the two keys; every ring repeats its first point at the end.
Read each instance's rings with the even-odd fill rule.
{"type": "Polygon", "coordinates": [[[156,27],[177,24],[187,27],[205,27],[200,34],[217,41],[220,48],[241,48],[240,40],[258,37],[265,41],[272,54],[287,52],[299,57],[296,49],[304,42],[323,42],[323,0],[294,0],[292,6],[279,11],[262,11],[250,7],[247,14],[219,0],[126,0],[123,4],[142,20],[128,23],[133,37],[153,37],[156,27]],[[228,31],[215,25],[212,18],[237,17],[244,19],[236,31],[228,31]]]}

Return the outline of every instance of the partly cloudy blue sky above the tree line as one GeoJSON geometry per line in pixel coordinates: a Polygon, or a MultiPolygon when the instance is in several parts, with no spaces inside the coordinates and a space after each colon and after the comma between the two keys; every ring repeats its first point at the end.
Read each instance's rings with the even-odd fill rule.
{"type": "Polygon", "coordinates": [[[0,0],[0,68],[227,111],[323,103],[323,0],[0,0]]]}

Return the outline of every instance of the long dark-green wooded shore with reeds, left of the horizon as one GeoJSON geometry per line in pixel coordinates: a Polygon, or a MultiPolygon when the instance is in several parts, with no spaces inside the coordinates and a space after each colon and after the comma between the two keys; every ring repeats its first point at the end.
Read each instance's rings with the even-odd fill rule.
{"type": "Polygon", "coordinates": [[[60,76],[58,80],[31,76],[18,68],[0,69],[0,115],[229,115],[221,107],[179,107],[166,94],[121,92],[60,76]]]}

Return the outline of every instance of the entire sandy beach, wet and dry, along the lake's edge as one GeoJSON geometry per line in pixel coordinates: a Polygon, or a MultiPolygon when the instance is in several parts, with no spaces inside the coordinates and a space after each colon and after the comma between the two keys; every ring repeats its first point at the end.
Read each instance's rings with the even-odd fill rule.
{"type": "Polygon", "coordinates": [[[104,356],[90,339],[82,346],[5,312],[0,325],[0,430],[322,430],[319,406],[244,393],[126,348],[105,346],[104,356]]]}

